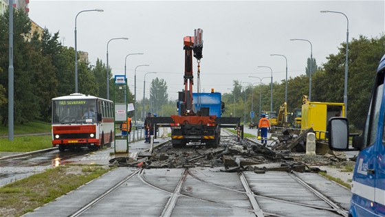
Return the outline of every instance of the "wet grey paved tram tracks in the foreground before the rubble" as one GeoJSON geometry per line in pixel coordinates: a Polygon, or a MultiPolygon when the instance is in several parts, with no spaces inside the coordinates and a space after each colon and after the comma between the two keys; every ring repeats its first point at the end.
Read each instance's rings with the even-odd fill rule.
{"type": "MultiPolygon", "coordinates": [[[[231,143],[235,139],[235,135],[231,135],[229,132],[223,133],[223,142],[231,143]],[[225,137],[228,139],[224,139],[225,137]],[[230,137],[234,139],[230,139],[230,137]]],[[[243,145],[250,146],[246,143],[243,145]]],[[[184,148],[177,150],[184,151],[184,148]]],[[[191,150],[191,148],[186,148],[186,150],[191,150]]],[[[82,205],[83,207],[77,207],[68,216],[96,214],[104,210],[109,201],[115,201],[114,205],[120,209],[126,209],[125,212],[135,209],[136,214],[146,213],[145,210],[140,210],[135,205],[127,207],[135,201],[135,196],[143,197],[140,199],[140,203],[146,201],[149,206],[152,204],[151,201],[157,201],[156,205],[153,204],[156,208],[153,208],[151,212],[155,216],[175,216],[187,213],[205,216],[205,212],[194,212],[195,209],[197,211],[206,210],[204,207],[210,207],[214,210],[211,214],[222,213],[222,215],[227,213],[226,210],[232,210],[233,215],[239,214],[240,216],[281,217],[293,216],[293,214],[307,216],[305,212],[301,213],[296,210],[305,209],[307,212],[320,213],[318,216],[347,216],[347,211],[334,202],[332,198],[329,198],[327,192],[326,194],[320,192],[316,187],[312,187],[307,181],[301,179],[305,177],[298,176],[294,172],[266,172],[266,174],[254,174],[252,171],[217,172],[219,172],[219,168],[138,169],[128,176],[122,175],[115,182],[115,185],[100,192],[99,196],[90,198],[89,203],[82,205]],[[277,194],[280,192],[279,183],[282,181],[270,183],[270,180],[281,179],[287,180],[287,183],[290,184],[287,186],[294,186],[294,189],[300,194],[294,193],[293,196],[289,197],[287,197],[287,192],[284,192],[283,195],[277,194]],[[120,192],[129,192],[129,194],[137,192],[138,194],[128,198],[125,196],[126,194],[122,196],[120,192]],[[153,198],[150,195],[162,195],[162,199],[153,198]],[[317,199],[309,203],[303,198],[304,196],[311,197],[312,200],[315,197],[317,199]],[[116,204],[117,198],[124,198],[124,201],[116,204]],[[276,209],[272,206],[280,208],[276,209]]],[[[309,178],[305,178],[305,180],[309,181],[309,178]]],[[[283,187],[283,185],[281,186],[283,187]]]]}

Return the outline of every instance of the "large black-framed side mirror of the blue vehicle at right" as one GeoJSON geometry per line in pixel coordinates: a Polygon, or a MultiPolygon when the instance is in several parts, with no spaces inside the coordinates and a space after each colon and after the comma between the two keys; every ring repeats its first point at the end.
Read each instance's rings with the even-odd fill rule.
{"type": "Polygon", "coordinates": [[[348,150],[349,124],[346,117],[331,117],[328,125],[329,148],[331,150],[348,150]]]}

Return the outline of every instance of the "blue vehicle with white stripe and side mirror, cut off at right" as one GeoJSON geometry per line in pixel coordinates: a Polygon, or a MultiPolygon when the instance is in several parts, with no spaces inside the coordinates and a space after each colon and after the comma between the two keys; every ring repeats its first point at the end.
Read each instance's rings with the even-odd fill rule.
{"type": "Polygon", "coordinates": [[[349,135],[345,117],[329,119],[332,150],[360,150],[353,172],[349,216],[385,216],[385,55],[377,68],[369,111],[361,135],[349,135]],[[353,137],[353,149],[349,149],[353,137]]]}

